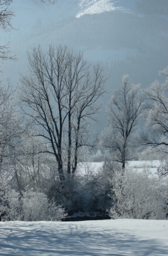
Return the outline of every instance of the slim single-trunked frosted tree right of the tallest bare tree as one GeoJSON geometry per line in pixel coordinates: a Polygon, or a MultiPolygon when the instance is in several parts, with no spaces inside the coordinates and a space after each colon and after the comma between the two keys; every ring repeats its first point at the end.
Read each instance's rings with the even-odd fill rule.
{"type": "Polygon", "coordinates": [[[101,135],[101,145],[108,148],[111,160],[122,163],[136,157],[136,131],[143,111],[143,93],[139,84],[132,84],[129,76],[122,79],[123,86],[114,92],[109,102],[108,127],[101,135]]]}

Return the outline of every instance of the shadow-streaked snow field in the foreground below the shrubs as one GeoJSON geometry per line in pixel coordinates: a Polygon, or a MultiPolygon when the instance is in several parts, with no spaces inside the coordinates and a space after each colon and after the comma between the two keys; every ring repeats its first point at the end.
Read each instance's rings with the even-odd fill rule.
{"type": "Polygon", "coordinates": [[[0,223],[1,256],[168,255],[168,221],[0,223]]]}

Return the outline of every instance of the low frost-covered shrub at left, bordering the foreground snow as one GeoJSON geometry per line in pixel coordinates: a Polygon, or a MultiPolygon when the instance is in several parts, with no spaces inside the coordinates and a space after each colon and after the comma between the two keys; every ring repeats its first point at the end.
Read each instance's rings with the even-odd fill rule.
{"type": "Polygon", "coordinates": [[[53,200],[49,202],[45,194],[31,189],[21,196],[14,190],[6,191],[3,202],[3,221],[60,221],[67,216],[60,205],[53,200]]]}

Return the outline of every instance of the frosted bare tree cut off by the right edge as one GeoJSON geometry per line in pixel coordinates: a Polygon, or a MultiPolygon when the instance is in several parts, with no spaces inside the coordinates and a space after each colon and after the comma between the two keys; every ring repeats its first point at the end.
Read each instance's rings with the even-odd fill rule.
{"type": "Polygon", "coordinates": [[[142,144],[168,153],[168,67],[160,71],[166,77],[165,83],[154,81],[146,90],[148,103],[148,132],[142,136],[142,144]]]}

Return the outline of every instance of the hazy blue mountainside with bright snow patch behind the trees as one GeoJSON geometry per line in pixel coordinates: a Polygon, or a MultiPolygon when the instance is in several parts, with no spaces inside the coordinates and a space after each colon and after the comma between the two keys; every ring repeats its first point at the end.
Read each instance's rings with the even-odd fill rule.
{"type": "Polygon", "coordinates": [[[16,86],[18,72],[27,70],[27,51],[34,45],[46,51],[49,44],[67,44],[83,51],[92,63],[99,61],[110,76],[104,102],[121,86],[123,74],[143,88],[155,79],[162,81],[158,71],[168,63],[167,7],[164,0],[58,0],[50,6],[38,0],[13,1],[13,26],[19,29],[1,33],[0,39],[3,44],[10,40],[18,61],[4,63],[4,80],[10,76],[16,86]]]}

